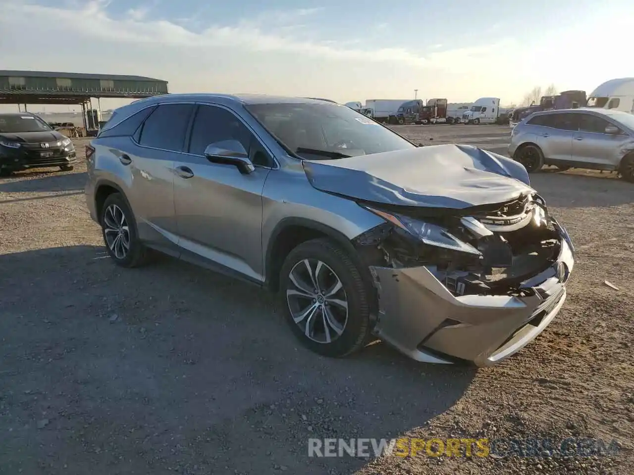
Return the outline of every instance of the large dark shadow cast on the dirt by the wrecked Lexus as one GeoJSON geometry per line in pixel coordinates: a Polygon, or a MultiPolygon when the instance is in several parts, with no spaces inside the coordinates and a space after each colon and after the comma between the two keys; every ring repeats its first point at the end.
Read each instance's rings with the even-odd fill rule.
{"type": "Polygon", "coordinates": [[[349,473],[309,438],[390,438],[450,408],[474,369],[385,345],[322,358],[262,289],[76,246],[0,255],[0,472],[349,473]]]}

